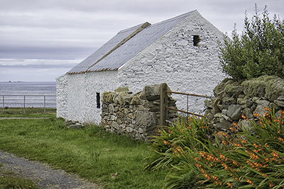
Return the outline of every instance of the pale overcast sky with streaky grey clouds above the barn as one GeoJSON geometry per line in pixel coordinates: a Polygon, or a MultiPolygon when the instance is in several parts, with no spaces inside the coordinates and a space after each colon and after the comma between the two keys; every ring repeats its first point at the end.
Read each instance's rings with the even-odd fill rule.
{"type": "Polygon", "coordinates": [[[55,81],[119,30],[197,9],[219,30],[241,33],[254,4],[283,19],[283,0],[0,0],[0,81],[55,81]]]}

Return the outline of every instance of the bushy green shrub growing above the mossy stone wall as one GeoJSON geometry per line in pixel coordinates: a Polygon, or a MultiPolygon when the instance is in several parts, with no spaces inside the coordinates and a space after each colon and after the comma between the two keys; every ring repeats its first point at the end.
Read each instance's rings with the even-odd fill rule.
{"type": "Polygon", "coordinates": [[[224,35],[220,45],[220,64],[236,81],[274,75],[284,78],[284,22],[277,16],[271,20],[267,7],[262,13],[255,6],[255,16],[245,16],[244,30],[239,35],[236,26],[232,39],[224,35]]]}

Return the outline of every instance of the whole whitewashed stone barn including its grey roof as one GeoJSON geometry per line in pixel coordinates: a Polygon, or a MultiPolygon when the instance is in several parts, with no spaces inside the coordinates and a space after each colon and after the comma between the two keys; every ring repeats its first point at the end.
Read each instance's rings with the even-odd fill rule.
{"type": "MultiPolygon", "coordinates": [[[[167,83],[172,91],[211,96],[224,74],[219,69],[218,41],[223,34],[200,13],[190,11],[160,23],[121,30],[57,81],[57,115],[79,122],[100,122],[104,91],[129,86],[142,91],[167,83]]],[[[186,109],[187,97],[173,96],[186,109]]],[[[190,99],[190,111],[204,107],[190,99]]]]}

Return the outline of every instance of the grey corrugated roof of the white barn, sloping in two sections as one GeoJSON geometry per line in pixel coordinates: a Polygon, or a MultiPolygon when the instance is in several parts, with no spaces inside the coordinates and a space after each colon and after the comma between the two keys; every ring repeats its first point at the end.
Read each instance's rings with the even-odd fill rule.
{"type": "Polygon", "coordinates": [[[76,67],[74,67],[67,73],[77,74],[89,71],[119,69],[119,67],[129,61],[129,59],[137,55],[144,48],[148,47],[148,45],[151,45],[151,43],[155,42],[155,40],[163,36],[166,32],[168,32],[168,30],[172,29],[175,25],[187,18],[187,16],[190,16],[190,14],[192,14],[193,12],[195,11],[184,13],[180,16],[170,18],[160,23],[148,25],[146,28],[144,28],[139,33],[130,38],[127,42],[125,42],[123,45],[114,50],[114,52],[111,52],[109,55],[101,59],[116,45],[118,45],[119,42],[131,35],[133,31],[137,30],[142,24],[136,25],[126,30],[121,30],[114,36],[114,38],[111,38],[111,40],[109,40],[106,44],[100,47],[96,52],[87,57],[87,59],[84,59],[84,61],[82,61],[80,64],[78,64],[76,67]],[[97,62],[98,60],[99,62],[97,62]]]}

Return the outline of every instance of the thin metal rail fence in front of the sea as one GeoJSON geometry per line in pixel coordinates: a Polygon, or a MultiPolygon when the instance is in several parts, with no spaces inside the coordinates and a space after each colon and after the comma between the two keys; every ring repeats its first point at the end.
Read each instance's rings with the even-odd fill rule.
{"type": "Polygon", "coordinates": [[[0,95],[0,106],[5,113],[10,109],[22,109],[23,114],[33,108],[43,109],[45,114],[48,108],[56,108],[55,95],[0,95]]]}

